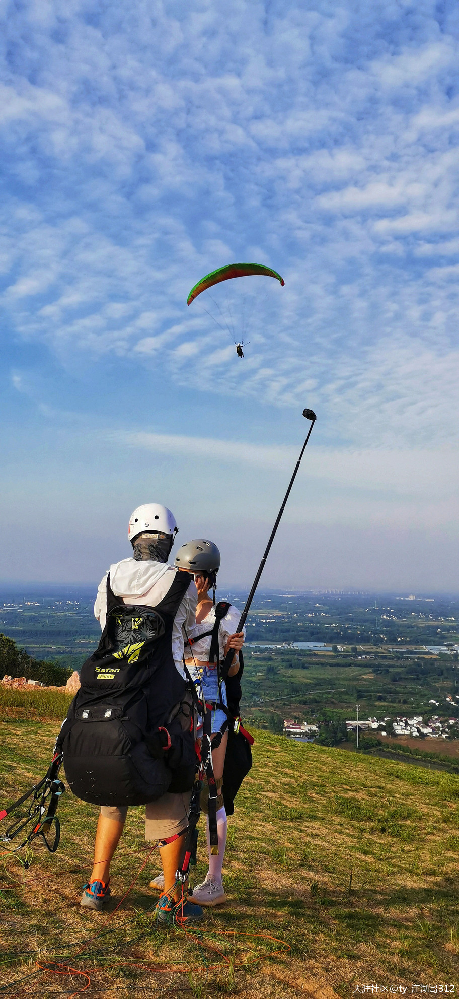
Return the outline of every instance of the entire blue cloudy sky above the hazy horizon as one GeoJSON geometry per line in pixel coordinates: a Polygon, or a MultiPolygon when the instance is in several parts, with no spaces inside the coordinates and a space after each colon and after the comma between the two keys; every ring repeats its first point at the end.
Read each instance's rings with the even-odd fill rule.
{"type": "Polygon", "coordinates": [[[249,583],[309,406],[265,585],[459,589],[457,3],[0,11],[0,577],[162,500],[249,583]],[[236,260],[244,361],[187,307],[236,260]]]}

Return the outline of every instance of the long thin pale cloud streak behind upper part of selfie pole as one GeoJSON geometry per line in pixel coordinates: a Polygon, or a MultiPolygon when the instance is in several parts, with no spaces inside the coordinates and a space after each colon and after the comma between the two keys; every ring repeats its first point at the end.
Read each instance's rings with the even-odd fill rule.
{"type": "MultiPolygon", "coordinates": [[[[285,489],[299,452],[291,446],[144,431],[118,431],[103,438],[118,448],[166,455],[171,461],[180,457],[195,470],[197,464],[206,468],[208,475],[210,467],[216,465],[221,477],[229,481],[235,470],[281,473],[285,489]]],[[[182,465],[185,478],[186,470],[187,465],[182,465]]],[[[455,449],[447,446],[436,450],[333,450],[312,443],[302,472],[308,484],[309,522],[352,523],[357,518],[366,524],[399,523],[405,528],[445,527],[455,516],[459,469],[455,449]]],[[[301,493],[293,493],[289,507],[288,517],[303,522],[301,493]]]]}

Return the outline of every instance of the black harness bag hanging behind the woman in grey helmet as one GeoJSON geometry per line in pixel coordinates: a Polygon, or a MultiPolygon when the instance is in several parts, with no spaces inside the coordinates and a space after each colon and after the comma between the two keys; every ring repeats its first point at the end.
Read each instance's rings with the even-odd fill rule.
{"type": "Polygon", "coordinates": [[[244,730],[239,727],[239,701],[241,696],[240,678],[243,673],[242,652],[239,653],[239,668],[234,676],[227,677],[227,699],[230,714],[228,745],[225,756],[223,795],[227,815],[234,812],[234,798],[251,768],[251,748],[244,730]],[[235,730],[237,729],[237,730],[235,730]]]}

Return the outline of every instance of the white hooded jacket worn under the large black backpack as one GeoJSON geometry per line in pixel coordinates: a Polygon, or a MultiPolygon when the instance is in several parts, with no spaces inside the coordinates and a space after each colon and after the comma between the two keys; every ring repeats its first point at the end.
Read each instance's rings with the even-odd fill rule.
{"type": "MultiPolygon", "coordinates": [[[[167,562],[136,561],[135,558],[123,558],[110,566],[110,585],[115,596],[121,596],[125,603],[142,603],[155,607],[169,592],[177,568],[167,562]]],[[[99,584],[94,613],[102,630],[107,617],[107,576],[99,584]]],[[[199,633],[200,625],[196,623],[196,607],[198,590],[194,580],[182,599],[174,619],[172,633],[172,650],[174,661],[182,676],[185,677],[182,661],[184,655],[184,627],[190,637],[199,633]]],[[[203,630],[201,626],[201,630],[203,630]]]]}

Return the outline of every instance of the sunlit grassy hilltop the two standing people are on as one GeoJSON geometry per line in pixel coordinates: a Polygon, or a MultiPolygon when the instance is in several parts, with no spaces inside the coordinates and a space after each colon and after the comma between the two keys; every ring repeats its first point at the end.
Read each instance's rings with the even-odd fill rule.
{"type": "MultiPolygon", "coordinates": [[[[0,723],[1,807],[42,775],[58,728],[0,723]]],[[[79,906],[95,806],[64,795],[59,851],[37,846],[29,870],[5,851],[0,996],[347,999],[357,985],[457,989],[459,777],[265,732],[253,753],[229,822],[230,902],[208,910],[200,931],[152,922],[148,885],[159,863],[146,852],[141,808],[128,817],[102,914],[79,906]]]]}

